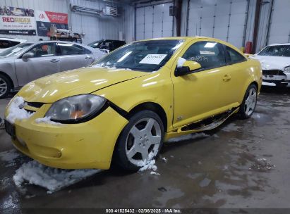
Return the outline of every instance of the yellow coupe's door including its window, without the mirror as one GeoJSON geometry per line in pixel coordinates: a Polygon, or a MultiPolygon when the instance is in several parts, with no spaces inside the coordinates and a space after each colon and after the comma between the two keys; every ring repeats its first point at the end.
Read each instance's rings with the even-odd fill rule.
{"type": "Polygon", "coordinates": [[[218,101],[221,70],[226,65],[222,44],[198,41],[188,45],[181,57],[200,63],[201,68],[179,77],[174,76],[176,65],[172,68],[174,128],[207,118],[222,107],[218,101]]]}

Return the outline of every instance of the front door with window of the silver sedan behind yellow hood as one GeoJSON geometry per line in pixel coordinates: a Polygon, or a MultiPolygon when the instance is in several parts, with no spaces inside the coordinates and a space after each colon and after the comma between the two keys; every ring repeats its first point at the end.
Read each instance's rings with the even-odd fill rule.
{"type": "Polygon", "coordinates": [[[37,44],[25,53],[28,52],[32,52],[34,56],[28,59],[20,57],[15,61],[16,76],[20,86],[59,72],[59,56],[57,56],[55,42],[37,44]]]}

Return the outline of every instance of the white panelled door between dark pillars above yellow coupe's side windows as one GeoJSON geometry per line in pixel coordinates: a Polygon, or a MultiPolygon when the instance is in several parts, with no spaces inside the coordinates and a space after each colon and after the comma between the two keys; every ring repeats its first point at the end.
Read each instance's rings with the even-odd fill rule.
{"type": "Polygon", "coordinates": [[[190,0],[186,35],[215,37],[240,48],[246,37],[248,4],[247,0],[190,0]]]}

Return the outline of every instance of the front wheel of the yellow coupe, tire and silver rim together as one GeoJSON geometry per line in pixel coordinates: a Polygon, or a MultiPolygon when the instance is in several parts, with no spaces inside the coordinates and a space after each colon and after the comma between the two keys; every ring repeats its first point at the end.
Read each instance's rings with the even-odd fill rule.
{"type": "Polygon", "coordinates": [[[114,162],[125,170],[136,171],[158,156],[163,138],[163,122],[157,113],[135,113],[119,136],[114,162]]]}

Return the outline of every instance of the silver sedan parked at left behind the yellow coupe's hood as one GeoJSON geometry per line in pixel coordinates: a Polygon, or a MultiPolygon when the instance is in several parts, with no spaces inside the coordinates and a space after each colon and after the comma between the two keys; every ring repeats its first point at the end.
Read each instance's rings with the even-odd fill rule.
{"type": "Polygon", "coordinates": [[[105,53],[83,44],[26,42],[0,53],[0,99],[37,78],[90,65],[105,53]]]}

